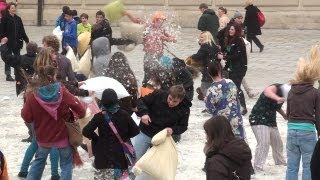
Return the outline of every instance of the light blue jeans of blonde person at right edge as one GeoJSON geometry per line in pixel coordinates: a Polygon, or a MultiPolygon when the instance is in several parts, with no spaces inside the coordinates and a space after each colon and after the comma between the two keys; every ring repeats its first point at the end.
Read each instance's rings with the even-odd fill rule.
{"type": "Polygon", "coordinates": [[[310,160],[317,143],[315,131],[288,130],[286,180],[298,180],[302,156],[302,180],[311,180],[310,160]]]}

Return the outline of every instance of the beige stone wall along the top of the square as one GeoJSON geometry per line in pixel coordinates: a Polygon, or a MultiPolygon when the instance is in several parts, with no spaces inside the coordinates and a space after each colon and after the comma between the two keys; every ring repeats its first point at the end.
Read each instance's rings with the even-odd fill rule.
{"type": "MultiPolygon", "coordinates": [[[[53,25],[63,5],[77,9],[78,13],[89,14],[94,22],[95,12],[113,0],[43,0],[43,25],[53,25]]],[[[228,9],[228,16],[234,11],[245,13],[244,0],[123,0],[126,9],[135,16],[147,17],[153,11],[166,9],[174,14],[175,21],[182,27],[196,27],[201,15],[200,3],[205,2],[217,10],[219,6],[228,9]]],[[[38,0],[19,0],[18,14],[26,25],[37,24],[38,0]]],[[[264,28],[320,29],[320,0],[258,0],[255,2],[266,16],[264,28]]],[[[126,18],[122,19],[127,21],[126,18]]],[[[117,25],[117,24],[114,24],[117,25]]]]}

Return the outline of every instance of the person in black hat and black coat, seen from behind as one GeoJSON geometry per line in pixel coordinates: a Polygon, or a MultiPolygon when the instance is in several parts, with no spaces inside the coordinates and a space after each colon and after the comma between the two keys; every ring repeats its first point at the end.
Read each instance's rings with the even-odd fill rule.
{"type": "Polygon", "coordinates": [[[120,179],[128,170],[122,144],[109,126],[112,122],[124,142],[139,134],[139,128],[124,110],[120,109],[118,97],[113,89],[102,93],[101,112],[83,128],[83,135],[92,140],[92,150],[95,156],[94,179],[120,179]],[[98,128],[98,134],[95,130],[98,128]]]}

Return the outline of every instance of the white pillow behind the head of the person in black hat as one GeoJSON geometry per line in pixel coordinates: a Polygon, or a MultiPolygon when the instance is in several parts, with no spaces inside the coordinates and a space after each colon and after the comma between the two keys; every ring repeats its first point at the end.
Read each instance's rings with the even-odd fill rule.
{"type": "Polygon", "coordinates": [[[85,81],[85,84],[80,86],[80,88],[94,91],[94,95],[98,99],[101,99],[103,91],[109,88],[113,89],[117,93],[118,99],[130,96],[128,91],[119,81],[104,76],[88,79],[85,81]]]}

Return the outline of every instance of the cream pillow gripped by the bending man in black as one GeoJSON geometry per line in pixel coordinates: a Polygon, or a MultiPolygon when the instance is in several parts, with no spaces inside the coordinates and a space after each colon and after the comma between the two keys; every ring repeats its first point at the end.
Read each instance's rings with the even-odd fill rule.
{"type": "Polygon", "coordinates": [[[156,180],[174,180],[178,165],[178,152],[171,136],[167,136],[167,129],[156,134],[151,143],[153,145],[135,164],[133,172],[136,175],[145,172],[156,180]]]}

